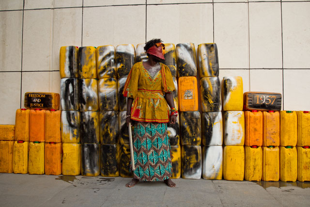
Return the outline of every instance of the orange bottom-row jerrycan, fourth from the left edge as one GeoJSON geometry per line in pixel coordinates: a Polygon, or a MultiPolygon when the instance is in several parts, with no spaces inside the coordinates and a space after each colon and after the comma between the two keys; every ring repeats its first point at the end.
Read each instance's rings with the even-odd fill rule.
{"type": "Polygon", "coordinates": [[[45,144],[45,174],[62,174],[62,143],[45,144]]]}

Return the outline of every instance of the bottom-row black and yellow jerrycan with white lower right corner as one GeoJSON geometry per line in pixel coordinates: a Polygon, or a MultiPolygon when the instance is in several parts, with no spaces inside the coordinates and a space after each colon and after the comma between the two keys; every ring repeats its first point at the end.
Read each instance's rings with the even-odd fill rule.
{"type": "Polygon", "coordinates": [[[182,145],[181,174],[185,179],[202,177],[202,148],[200,145],[182,145]]]}

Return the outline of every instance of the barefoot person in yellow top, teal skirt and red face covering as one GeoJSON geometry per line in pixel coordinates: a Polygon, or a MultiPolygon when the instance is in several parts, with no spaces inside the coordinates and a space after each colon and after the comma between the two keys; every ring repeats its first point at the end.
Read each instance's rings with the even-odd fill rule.
{"type": "Polygon", "coordinates": [[[127,77],[123,95],[127,97],[126,123],[135,127],[133,137],[135,171],[126,187],[139,180],[164,182],[175,187],[167,123],[174,124],[178,111],[174,108],[175,90],[170,69],[162,64],[165,45],[161,39],[145,44],[148,61],[134,64],[127,77]],[[167,104],[168,103],[168,104],[167,104]],[[171,111],[168,108],[171,108],[171,111]]]}

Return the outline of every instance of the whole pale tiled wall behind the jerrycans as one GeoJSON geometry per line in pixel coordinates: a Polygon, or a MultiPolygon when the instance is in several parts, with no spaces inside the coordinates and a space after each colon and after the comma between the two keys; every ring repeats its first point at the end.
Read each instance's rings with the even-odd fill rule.
{"type": "Polygon", "coordinates": [[[279,92],[284,110],[310,110],[310,1],[1,0],[0,124],[25,92],[60,93],[61,46],[217,43],[219,76],[244,92],[279,92]]]}

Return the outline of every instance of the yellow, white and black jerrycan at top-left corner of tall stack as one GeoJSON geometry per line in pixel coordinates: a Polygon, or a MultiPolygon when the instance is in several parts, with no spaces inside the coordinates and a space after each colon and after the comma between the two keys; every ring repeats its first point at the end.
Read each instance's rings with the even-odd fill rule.
{"type": "Polygon", "coordinates": [[[78,47],[63,46],[59,52],[60,78],[78,78],[78,47]]]}

